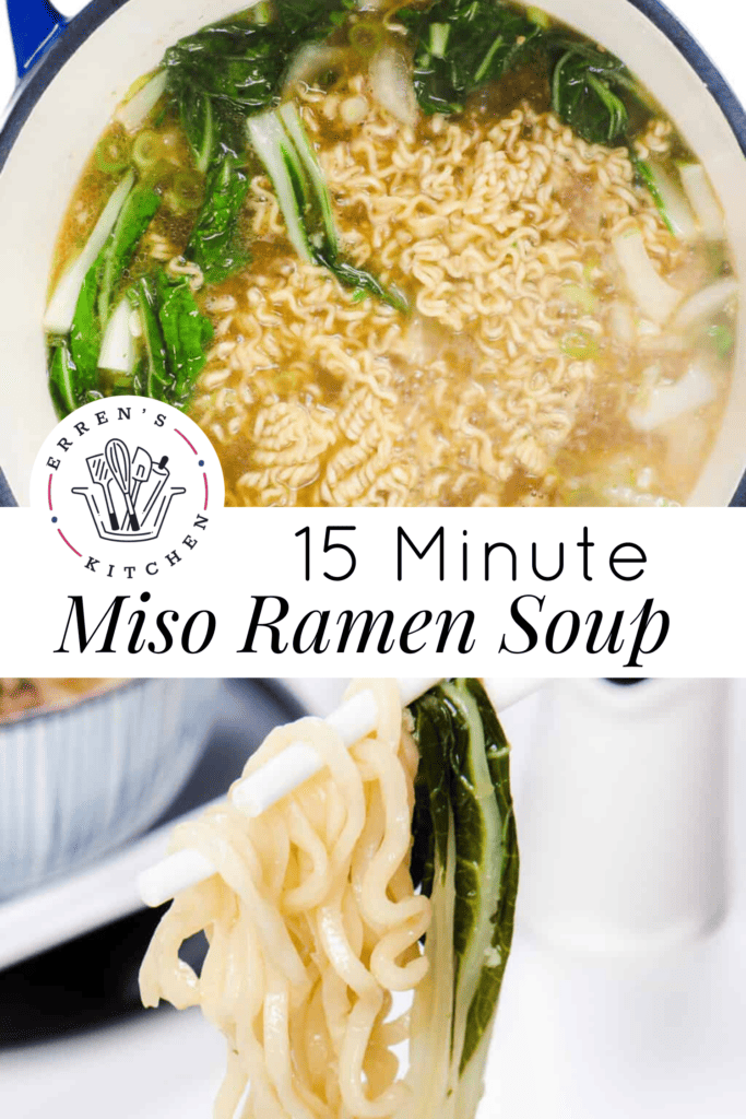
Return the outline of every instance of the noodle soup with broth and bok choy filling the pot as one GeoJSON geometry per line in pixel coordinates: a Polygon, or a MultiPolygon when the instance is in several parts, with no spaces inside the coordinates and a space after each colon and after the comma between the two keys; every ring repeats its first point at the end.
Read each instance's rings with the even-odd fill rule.
{"type": "Polygon", "coordinates": [[[187,406],[233,505],[686,501],[728,396],[737,288],[674,124],[536,9],[440,0],[327,23],[333,7],[313,34],[287,0],[206,28],[120,109],[65,219],[55,298],[130,163],[157,197],[130,255],[110,253],[114,283],[100,260],[72,354],[48,317],[58,406],[187,406]],[[264,101],[229,68],[262,35],[285,51],[264,101]],[[240,137],[232,116],[210,154],[205,121],[227,104],[240,137]],[[154,347],[148,327],[174,288],[192,300],[186,354],[168,308],[154,347]]]}

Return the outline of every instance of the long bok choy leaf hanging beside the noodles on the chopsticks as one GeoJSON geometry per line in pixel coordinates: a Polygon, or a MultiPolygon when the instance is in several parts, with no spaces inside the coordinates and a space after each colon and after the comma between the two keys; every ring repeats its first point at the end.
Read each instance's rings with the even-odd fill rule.
{"type": "Polygon", "coordinates": [[[428,941],[434,943],[426,941],[426,950],[438,965],[422,995],[426,1005],[417,1005],[418,994],[413,1010],[426,1029],[416,1043],[415,1065],[429,1049],[432,1072],[417,1115],[446,1115],[447,1103],[448,1116],[472,1119],[518,891],[509,747],[475,680],[442,685],[410,709],[421,754],[412,874],[433,901],[428,941]],[[443,955],[446,938],[452,961],[443,955]]]}

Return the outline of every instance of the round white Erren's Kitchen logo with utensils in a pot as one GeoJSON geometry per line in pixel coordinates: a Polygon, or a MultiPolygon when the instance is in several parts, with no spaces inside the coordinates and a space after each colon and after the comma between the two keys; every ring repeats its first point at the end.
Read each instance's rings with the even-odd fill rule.
{"type": "Polygon", "coordinates": [[[205,433],[141,396],[94,401],[46,440],[31,505],[65,552],[94,575],[148,580],[179,567],[207,538],[225,485],[205,433]]]}

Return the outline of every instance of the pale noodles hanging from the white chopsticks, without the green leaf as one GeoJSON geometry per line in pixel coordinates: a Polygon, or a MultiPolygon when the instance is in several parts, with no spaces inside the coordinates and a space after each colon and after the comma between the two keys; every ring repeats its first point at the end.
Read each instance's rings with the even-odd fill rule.
{"type": "Polygon", "coordinates": [[[218,873],[182,893],[143,962],[147,1006],[200,1006],[225,1034],[228,1068],[217,1119],[386,1119],[406,1103],[394,1047],[394,993],[414,990],[427,961],[419,941],[431,902],[409,875],[418,753],[394,681],[374,690],[375,731],[347,750],[320,720],[274,731],[253,773],[299,737],[325,769],[251,820],[230,803],[182,825],[173,849],[193,848],[218,873]],[[179,959],[205,930],[201,975],[179,959]]]}

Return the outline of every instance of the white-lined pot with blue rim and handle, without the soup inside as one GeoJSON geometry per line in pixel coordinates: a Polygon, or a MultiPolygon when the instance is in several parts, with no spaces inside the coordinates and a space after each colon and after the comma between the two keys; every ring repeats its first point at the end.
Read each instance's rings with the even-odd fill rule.
{"type": "MultiPolygon", "coordinates": [[[[20,504],[55,424],[41,331],[57,231],[81,169],[133,79],[176,39],[246,7],[242,0],[93,0],[70,23],[43,0],[8,0],[25,77],[0,133],[0,464],[20,504]],[[26,73],[28,72],[28,73],[26,73]]],[[[551,16],[618,55],[662,104],[721,199],[742,302],[746,294],[746,114],[684,28],[658,0],[546,0],[551,16]]],[[[742,505],[746,483],[746,316],[738,322],[724,422],[690,496],[742,505]]],[[[4,501],[9,500],[6,493],[4,501]]],[[[0,489],[0,502],[3,501],[0,489]]]]}

